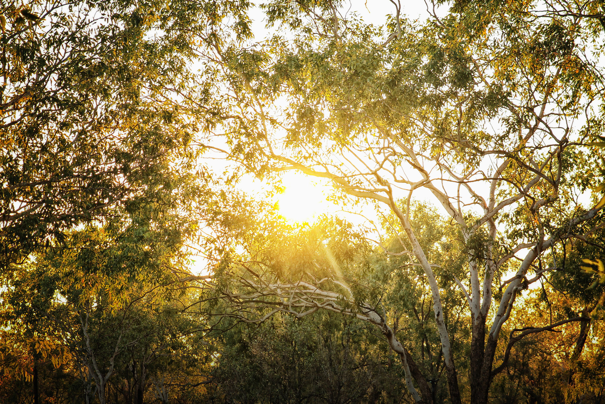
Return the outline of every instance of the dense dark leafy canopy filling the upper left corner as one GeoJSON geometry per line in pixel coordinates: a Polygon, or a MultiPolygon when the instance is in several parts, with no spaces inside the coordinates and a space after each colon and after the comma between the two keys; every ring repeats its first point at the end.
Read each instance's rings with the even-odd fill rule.
{"type": "Polygon", "coordinates": [[[177,102],[194,76],[192,38],[245,36],[245,5],[0,4],[2,265],[116,208],[172,203],[204,122],[177,102]]]}

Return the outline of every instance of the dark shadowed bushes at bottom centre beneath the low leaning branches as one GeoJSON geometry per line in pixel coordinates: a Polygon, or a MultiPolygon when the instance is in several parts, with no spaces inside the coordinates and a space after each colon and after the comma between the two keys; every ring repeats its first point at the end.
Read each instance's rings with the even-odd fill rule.
{"type": "Polygon", "coordinates": [[[335,313],[224,322],[206,401],[400,402],[401,366],[375,330],[335,313]],[[231,328],[231,329],[229,329],[231,328]]]}

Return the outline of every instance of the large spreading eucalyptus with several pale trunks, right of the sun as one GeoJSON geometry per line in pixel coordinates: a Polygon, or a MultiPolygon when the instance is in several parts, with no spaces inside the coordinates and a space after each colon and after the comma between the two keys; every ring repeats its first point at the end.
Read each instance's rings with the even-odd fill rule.
{"type": "MultiPolygon", "coordinates": [[[[396,217],[401,250],[385,253],[407,254],[422,268],[453,403],[462,402],[461,365],[470,402],[488,401],[492,378],[505,368],[496,353],[515,300],[557,270],[566,240],[583,238],[601,217],[600,206],[584,206],[578,195],[598,173],[592,157],[600,151],[589,142],[603,134],[603,68],[594,63],[603,33],[594,16],[538,13],[546,3],[459,2],[422,25],[397,8],[374,27],[345,13],[343,2],[273,1],[263,6],[267,22],[287,35],[201,55],[221,75],[215,94],[225,107],[215,120],[229,158],[258,176],[298,170],[328,179],[343,197],[396,217]],[[464,271],[431,262],[431,246],[419,241],[410,204],[421,192],[460,231],[464,271]],[[446,278],[466,303],[468,362],[454,358],[446,278]]],[[[322,254],[321,262],[296,265],[242,262],[247,275],[223,293],[250,321],[322,309],[373,323],[399,353],[414,400],[433,402],[408,342],[376,300],[348,285],[342,260],[322,254]],[[254,307],[266,311],[254,317],[254,307]]],[[[557,320],[532,328],[530,319],[515,339],[586,317],[557,320]]]]}

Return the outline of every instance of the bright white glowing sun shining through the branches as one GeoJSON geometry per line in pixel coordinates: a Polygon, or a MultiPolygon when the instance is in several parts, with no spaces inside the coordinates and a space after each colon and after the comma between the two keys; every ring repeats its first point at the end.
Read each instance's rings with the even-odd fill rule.
{"type": "Polygon", "coordinates": [[[286,173],[281,185],[284,192],[278,195],[281,216],[290,222],[313,222],[321,214],[334,214],[338,207],[326,200],[330,187],[319,179],[300,173],[286,173]]]}

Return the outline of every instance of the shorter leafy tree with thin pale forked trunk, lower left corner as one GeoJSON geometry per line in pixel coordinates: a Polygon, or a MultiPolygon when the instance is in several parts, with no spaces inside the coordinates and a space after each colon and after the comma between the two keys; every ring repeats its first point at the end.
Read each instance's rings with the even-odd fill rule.
{"type": "MultiPolygon", "coordinates": [[[[190,306],[179,287],[186,233],[176,219],[169,224],[174,227],[160,220],[143,226],[139,217],[126,228],[113,223],[73,231],[65,245],[22,265],[18,279],[5,286],[2,334],[11,344],[2,347],[2,370],[26,381],[33,374],[34,401],[44,397],[36,389],[38,368],[49,362],[70,380],[66,386],[79,389],[74,398],[93,402],[97,396],[100,403],[118,396],[142,403],[150,382],[171,373],[179,386],[179,373],[205,365],[208,345],[192,341],[204,338],[206,324],[182,313],[190,306]],[[19,345],[24,363],[9,362],[16,362],[19,345]]],[[[189,376],[181,388],[195,379],[189,376]]]]}

